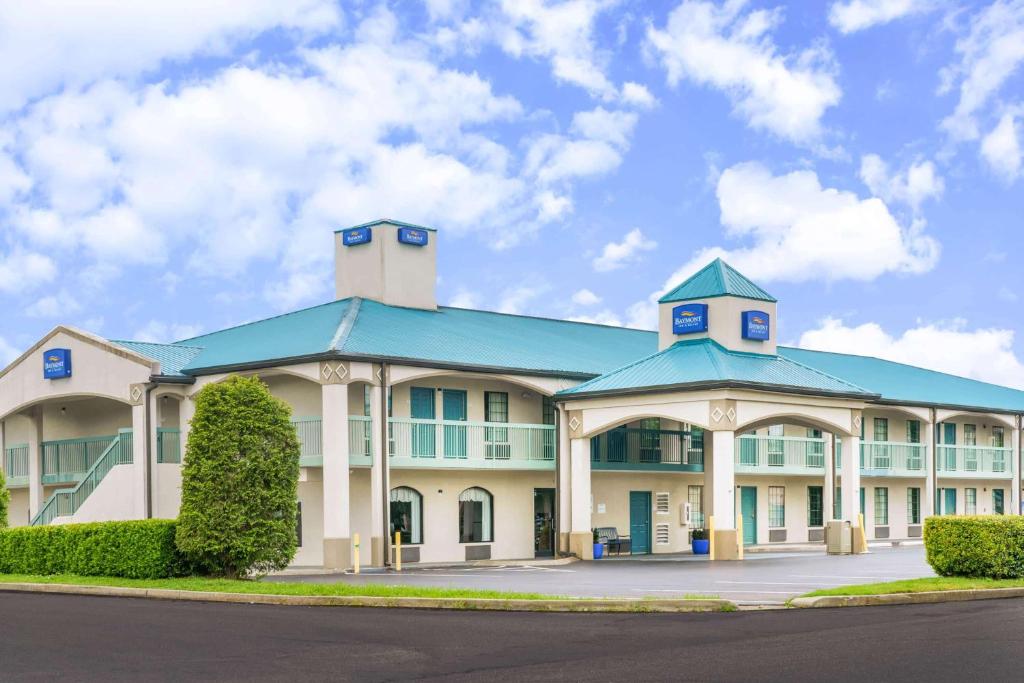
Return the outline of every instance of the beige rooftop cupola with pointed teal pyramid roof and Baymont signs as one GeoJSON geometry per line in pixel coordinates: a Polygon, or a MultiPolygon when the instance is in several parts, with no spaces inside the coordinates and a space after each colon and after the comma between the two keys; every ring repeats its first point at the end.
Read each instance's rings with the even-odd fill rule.
{"type": "Polygon", "coordinates": [[[710,338],[727,349],[775,354],[773,296],[720,258],[658,300],[658,348],[710,338]]]}

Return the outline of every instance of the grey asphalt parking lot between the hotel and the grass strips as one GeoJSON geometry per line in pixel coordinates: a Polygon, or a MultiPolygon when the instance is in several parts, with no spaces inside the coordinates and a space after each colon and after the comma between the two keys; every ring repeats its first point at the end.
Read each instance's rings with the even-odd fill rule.
{"type": "Polygon", "coordinates": [[[610,558],[563,565],[409,566],[401,573],[282,575],[267,581],[392,583],[578,597],[715,595],[737,603],[775,604],[809,591],[935,575],[922,546],[872,548],[866,555],[824,552],[748,554],[742,562],[692,556],[610,558]]]}

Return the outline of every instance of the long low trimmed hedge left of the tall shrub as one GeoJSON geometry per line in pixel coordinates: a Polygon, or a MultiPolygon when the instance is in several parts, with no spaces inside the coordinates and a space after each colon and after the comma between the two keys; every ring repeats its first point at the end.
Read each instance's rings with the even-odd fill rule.
{"type": "Polygon", "coordinates": [[[0,529],[0,573],[167,579],[187,573],[168,519],[0,529]]]}

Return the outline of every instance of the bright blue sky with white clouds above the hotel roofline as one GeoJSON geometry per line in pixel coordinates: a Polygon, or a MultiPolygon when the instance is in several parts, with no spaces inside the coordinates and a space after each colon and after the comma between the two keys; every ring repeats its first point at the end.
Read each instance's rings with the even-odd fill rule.
{"type": "Polygon", "coordinates": [[[94,4],[0,9],[0,362],[324,302],[388,216],[444,303],[649,328],[723,256],[785,343],[1024,386],[1024,0],[94,4]]]}

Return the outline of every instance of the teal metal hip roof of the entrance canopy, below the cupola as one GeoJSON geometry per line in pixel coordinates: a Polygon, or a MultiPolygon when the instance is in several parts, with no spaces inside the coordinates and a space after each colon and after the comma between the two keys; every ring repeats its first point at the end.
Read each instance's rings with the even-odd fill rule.
{"type": "Polygon", "coordinates": [[[561,391],[558,395],[616,393],[705,383],[741,383],[825,394],[855,394],[868,399],[873,397],[870,391],[852,382],[796,360],[778,355],[730,351],[711,339],[676,342],[664,351],[561,391]]]}

